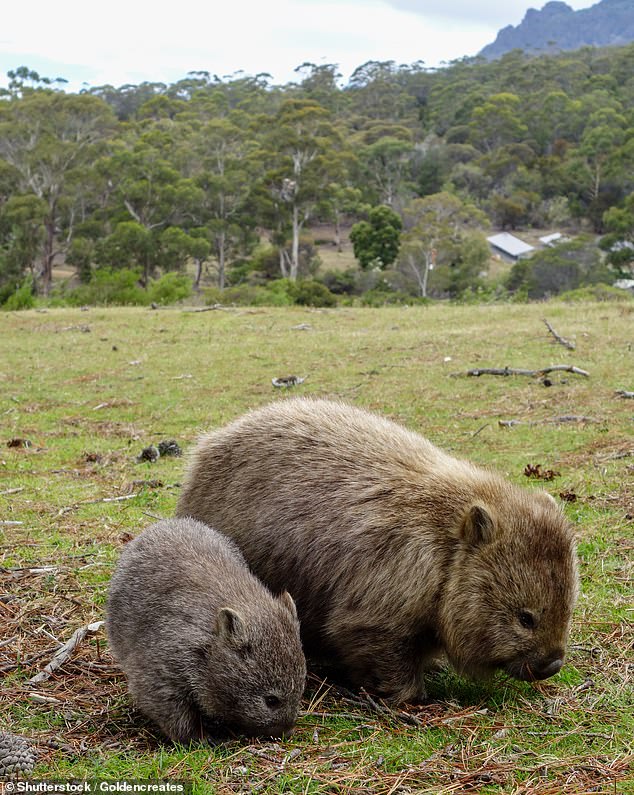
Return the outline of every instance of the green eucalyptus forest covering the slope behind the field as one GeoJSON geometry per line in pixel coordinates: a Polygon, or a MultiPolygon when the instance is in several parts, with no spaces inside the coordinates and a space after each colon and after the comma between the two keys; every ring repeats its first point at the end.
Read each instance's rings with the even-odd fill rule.
{"type": "Polygon", "coordinates": [[[335,64],[295,71],[80,93],[9,72],[0,305],[525,300],[632,278],[634,45],[369,61],[345,85],[335,64]],[[501,230],[562,242],[496,270],[501,230]]]}

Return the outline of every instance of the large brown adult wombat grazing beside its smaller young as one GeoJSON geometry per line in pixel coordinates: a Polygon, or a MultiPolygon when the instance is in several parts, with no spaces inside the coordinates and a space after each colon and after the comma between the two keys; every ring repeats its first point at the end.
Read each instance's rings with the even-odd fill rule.
{"type": "Polygon", "coordinates": [[[474,677],[563,664],[577,564],[555,501],[381,417],[310,399],[253,411],[200,439],[177,513],[288,589],[309,654],[388,698],[424,699],[442,653],[474,677]]]}

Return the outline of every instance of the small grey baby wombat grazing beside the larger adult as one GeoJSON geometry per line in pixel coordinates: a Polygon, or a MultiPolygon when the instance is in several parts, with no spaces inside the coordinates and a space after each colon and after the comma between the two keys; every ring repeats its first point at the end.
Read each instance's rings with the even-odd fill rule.
{"type": "Polygon", "coordinates": [[[306,677],[293,600],[201,522],[158,522],[124,548],[106,627],[139,709],[172,740],[293,726],[306,677]]]}

